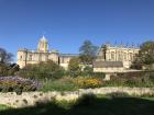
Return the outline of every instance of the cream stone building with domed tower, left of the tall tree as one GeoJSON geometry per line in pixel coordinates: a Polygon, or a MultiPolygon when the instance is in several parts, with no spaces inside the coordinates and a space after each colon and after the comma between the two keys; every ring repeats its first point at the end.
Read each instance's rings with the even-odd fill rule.
{"type": "Polygon", "coordinates": [[[37,44],[36,50],[31,50],[26,48],[20,48],[18,50],[18,65],[20,66],[20,68],[24,68],[26,65],[53,60],[54,62],[67,69],[69,60],[75,56],[77,55],[59,54],[58,50],[55,49],[50,50],[48,42],[43,36],[37,44]]]}

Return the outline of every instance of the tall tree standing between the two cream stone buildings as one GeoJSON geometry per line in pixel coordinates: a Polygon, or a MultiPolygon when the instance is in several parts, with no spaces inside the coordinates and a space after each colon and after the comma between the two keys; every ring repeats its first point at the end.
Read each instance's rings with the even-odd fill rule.
{"type": "Polygon", "coordinates": [[[96,58],[98,47],[95,46],[90,41],[85,41],[82,46],[79,48],[80,60],[84,65],[91,65],[96,58]]]}

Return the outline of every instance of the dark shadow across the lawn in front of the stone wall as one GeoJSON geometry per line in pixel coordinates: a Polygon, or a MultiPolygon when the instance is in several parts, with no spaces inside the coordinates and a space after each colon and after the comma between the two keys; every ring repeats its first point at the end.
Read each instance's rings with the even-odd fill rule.
{"type": "Polygon", "coordinates": [[[80,100],[69,110],[57,104],[7,110],[0,115],[154,115],[154,101],[136,97],[80,100]]]}

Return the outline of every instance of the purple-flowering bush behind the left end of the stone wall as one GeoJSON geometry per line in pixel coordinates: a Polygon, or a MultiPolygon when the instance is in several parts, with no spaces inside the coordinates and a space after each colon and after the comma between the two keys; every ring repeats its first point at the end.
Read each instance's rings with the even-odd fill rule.
{"type": "Polygon", "coordinates": [[[38,83],[32,80],[18,77],[0,77],[1,92],[16,92],[16,94],[21,94],[24,91],[35,91],[37,89],[38,83]]]}

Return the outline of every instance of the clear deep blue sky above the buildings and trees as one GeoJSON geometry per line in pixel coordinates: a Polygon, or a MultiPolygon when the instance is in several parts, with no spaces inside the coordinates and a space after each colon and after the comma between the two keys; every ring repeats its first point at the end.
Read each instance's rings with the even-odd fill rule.
{"type": "Polygon", "coordinates": [[[61,53],[85,39],[141,44],[154,39],[154,0],[0,0],[0,47],[16,56],[43,34],[61,53]]]}

